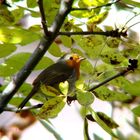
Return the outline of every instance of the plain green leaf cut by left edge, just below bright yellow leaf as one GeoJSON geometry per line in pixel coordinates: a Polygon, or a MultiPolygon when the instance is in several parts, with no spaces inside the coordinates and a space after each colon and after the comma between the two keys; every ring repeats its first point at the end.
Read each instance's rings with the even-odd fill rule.
{"type": "Polygon", "coordinates": [[[16,46],[12,44],[0,44],[0,58],[8,56],[16,50],[16,46]]]}

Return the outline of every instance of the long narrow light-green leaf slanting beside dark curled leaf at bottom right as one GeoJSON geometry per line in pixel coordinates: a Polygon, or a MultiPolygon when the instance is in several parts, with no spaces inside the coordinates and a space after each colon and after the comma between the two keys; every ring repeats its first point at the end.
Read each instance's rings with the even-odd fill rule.
{"type": "Polygon", "coordinates": [[[98,114],[97,114],[91,107],[89,107],[89,111],[90,111],[92,117],[94,118],[94,120],[95,120],[107,133],[109,133],[111,136],[117,138],[116,134],[108,127],[108,125],[106,125],[106,124],[104,123],[104,121],[102,121],[102,120],[100,119],[100,117],[98,116],[98,114]]]}

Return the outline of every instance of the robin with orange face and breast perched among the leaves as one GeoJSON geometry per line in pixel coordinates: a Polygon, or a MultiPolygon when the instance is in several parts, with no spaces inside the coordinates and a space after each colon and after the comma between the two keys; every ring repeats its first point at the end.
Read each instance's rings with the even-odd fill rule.
{"type": "Polygon", "coordinates": [[[41,84],[55,87],[60,82],[68,81],[70,94],[75,88],[75,81],[80,76],[80,63],[84,58],[78,54],[65,54],[56,63],[43,70],[33,82],[33,89],[21,102],[19,109],[22,109],[29,99],[39,90],[41,84]]]}

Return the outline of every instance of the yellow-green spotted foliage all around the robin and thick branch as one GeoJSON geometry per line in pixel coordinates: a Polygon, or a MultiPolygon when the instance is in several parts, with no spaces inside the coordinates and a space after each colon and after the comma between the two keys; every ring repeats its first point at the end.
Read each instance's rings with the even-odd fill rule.
{"type": "MultiPolygon", "coordinates": [[[[0,91],[7,85],[7,79],[15,76],[32,55],[27,51],[21,52],[19,50],[24,50],[24,46],[40,40],[44,35],[41,22],[40,24],[35,22],[35,20],[42,20],[40,18],[41,12],[36,10],[38,9],[37,2],[26,0],[26,5],[18,6],[19,2],[22,1],[12,0],[11,7],[4,3],[0,4],[0,78],[4,81],[0,91]],[[28,20],[26,16],[33,18],[33,23],[27,27],[25,27],[25,22],[28,20]]],[[[61,4],[59,0],[43,0],[47,27],[51,27],[61,4]]],[[[69,15],[57,33],[59,36],[48,49],[49,56],[52,57],[44,56],[34,69],[35,71],[48,67],[53,63],[53,58],[58,58],[67,52],[78,53],[86,57],[86,60],[81,64],[81,77],[77,81],[75,91],[76,100],[87,110],[84,116],[85,139],[89,138],[87,134],[89,121],[86,118],[88,112],[90,112],[92,119],[107,133],[113,137],[119,137],[112,131],[118,125],[107,115],[101,115],[92,109],[91,105],[94,104],[96,98],[111,103],[117,102],[122,108],[126,107],[124,105],[127,104],[134,117],[140,116],[140,106],[135,100],[139,99],[140,96],[140,42],[133,40],[136,38],[136,33],[130,28],[132,24],[128,26],[129,22],[139,16],[139,8],[140,3],[131,0],[114,1],[113,3],[111,0],[74,0],[69,15]],[[130,17],[130,20],[126,20],[121,28],[103,25],[103,29],[102,24],[114,7],[116,7],[117,12],[129,11],[133,16],[130,17]],[[131,38],[131,36],[134,37],[131,38]],[[130,66],[129,59],[138,60],[138,67],[134,71],[114,78],[96,88],[94,92],[89,91],[93,85],[127,69],[130,66]],[[132,108],[131,105],[134,103],[135,107],[132,108]]],[[[38,44],[35,47],[37,46],[38,44]]],[[[47,120],[56,117],[62,111],[67,103],[68,85],[61,83],[59,86],[61,93],[52,87],[41,86],[41,91],[39,91],[41,94],[37,94],[33,98],[45,103],[39,111],[33,111],[36,117],[47,120]],[[43,96],[39,97],[41,95],[43,96]]],[[[19,90],[19,95],[14,96],[9,104],[18,106],[30,89],[31,85],[24,83],[19,90]]],[[[42,123],[44,125],[44,122],[42,123]]],[[[140,128],[139,124],[131,126],[140,128]]],[[[102,139],[94,136],[96,139],[102,139]]]]}

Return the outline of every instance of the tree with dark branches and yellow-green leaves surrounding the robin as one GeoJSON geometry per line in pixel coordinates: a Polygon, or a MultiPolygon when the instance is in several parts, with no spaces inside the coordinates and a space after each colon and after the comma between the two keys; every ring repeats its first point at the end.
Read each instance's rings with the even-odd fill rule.
{"type": "MultiPolygon", "coordinates": [[[[69,99],[77,100],[86,110],[82,114],[85,139],[90,139],[89,120],[97,122],[111,136],[119,137],[112,131],[118,124],[102,112],[95,112],[91,104],[99,98],[111,102],[113,108],[118,107],[117,102],[122,107],[127,104],[131,110],[131,105],[135,102],[137,106],[132,109],[134,118],[137,120],[140,115],[140,107],[136,102],[140,85],[137,76],[140,72],[140,43],[130,38],[135,35],[131,27],[139,22],[126,27],[139,16],[140,3],[131,0],[27,0],[27,6],[23,7],[18,6],[19,1],[12,0],[12,4],[7,4],[4,0],[0,5],[0,76],[4,79],[1,85],[0,111],[17,111],[16,108],[7,107],[7,104],[18,106],[29,93],[31,85],[25,80],[34,68],[41,70],[53,63],[51,58],[44,56],[46,51],[52,56],[60,57],[65,50],[69,50],[87,58],[81,66],[82,75],[77,82],[77,90],[69,99]],[[122,28],[105,26],[103,30],[99,25],[108,17],[113,6],[117,11],[129,11],[133,16],[122,28]],[[41,18],[41,24],[25,29],[21,20],[27,15],[41,18]],[[17,48],[37,40],[40,42],[32,54],[16,52],[17,48]],[[8,84],[5,82],[7,80],[8,84]],[[20,96],[14,96],[17,92],[20,96]]],[[[62,92],[67,89],[63,83],[60,86],[62,92]]],[[[44,98],[33,97],[44,104],[23,110],[34,108],[34,113],[43,119],[55,117],[66,104],[66,95],[48,93],[43,86],[41,89],[51,97],[45,103],[44,98]],[[50,104],[51,110],[48,107],[50,104]],[[41,109],[38,111],[35,108],[41,109]]],[[[140,128],[138,123],[133,122],[131,125],[136,130],[140,128]]]]}

